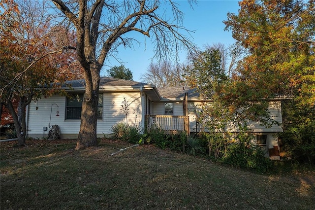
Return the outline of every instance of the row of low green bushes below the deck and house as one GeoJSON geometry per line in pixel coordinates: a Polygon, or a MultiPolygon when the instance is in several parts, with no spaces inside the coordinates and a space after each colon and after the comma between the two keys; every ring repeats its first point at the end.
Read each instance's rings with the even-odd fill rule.
{"type": "Polygon", "coordinates": [[[272,168],[265,151],[258,145],[252,145],[252,136],[240,132],[230,140],[228,135],[221,133],[202,133],[187,138],[186,133],[165,135],[164,131],[156,128],[146,135],[146,143],[154,143],[161,149],[181,151],[189,155],[202,156],[211,160],[236,166],[242,169],[266,173],[272,168]]]}

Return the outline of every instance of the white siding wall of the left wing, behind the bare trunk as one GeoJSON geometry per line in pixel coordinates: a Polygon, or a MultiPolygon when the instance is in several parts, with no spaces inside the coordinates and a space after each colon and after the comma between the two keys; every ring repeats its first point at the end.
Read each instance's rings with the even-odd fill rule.
{"type": "MultiPolygon", "coordinates": [[[[126,115],[122,109],[124,97],[128,101],[128,124],[141,126],[141,96],[140,92],[126,93],[103,93],[103,118],[97,120],[97,136],[103,137],[110,134],[110,128],[118,122],[126,122],[126,115]]],[[[65,120],[65,96],[52,96],[48,99],[41,99],[35,104],[32,102],[28,107],[28,137],[47,138],[48,131],[43,133],[43,127],[49,126],[50,110],[52,107],[50,125],[58,125],[61,130],[62,138],[75,139],[80,131],[81,121],[65,120]],[[59,105],[59,115],[56,116],[57,106],[59,105]],[[36,110],[36,105],[38,110],[36,110]]]]}

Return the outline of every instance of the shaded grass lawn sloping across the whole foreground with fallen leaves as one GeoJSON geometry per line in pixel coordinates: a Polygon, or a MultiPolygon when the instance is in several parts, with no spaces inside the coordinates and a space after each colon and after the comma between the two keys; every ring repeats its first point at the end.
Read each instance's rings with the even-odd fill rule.
{"type": "Polygon", "coordinates": [[[1,209],[315,209],[315,173],[259,175],[153,145],[0,143],[1,209]]]}

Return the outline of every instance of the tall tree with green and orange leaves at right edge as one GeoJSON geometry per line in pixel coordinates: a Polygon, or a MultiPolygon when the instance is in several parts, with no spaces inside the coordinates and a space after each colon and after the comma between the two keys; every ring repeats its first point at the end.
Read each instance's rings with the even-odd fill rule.
{"type": "Polygon", "coordinates": [[[315,106],[315,1],[242,0],[239,5],[238,15],[228,13],[226,30],[250,54],[233,75],[231,98],[289,96],[291,105],[283,107],[282,140],[294,142],[283,146],[296,151],[294,147],[307,141],[302,128],[315,122],[305,111],[314,112],[315,106]],[[296,135],[289,135],[292,131],[296,135]]]}

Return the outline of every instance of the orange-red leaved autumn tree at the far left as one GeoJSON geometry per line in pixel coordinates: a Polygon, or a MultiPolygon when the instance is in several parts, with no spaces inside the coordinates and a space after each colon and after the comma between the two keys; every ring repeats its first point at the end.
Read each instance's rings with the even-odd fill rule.
{"type": "Polygon", "coordinates": [[[0,2],[0,103],[12,115],[20,146],[25,145],[27,134],[26,106],[73,78],[68,64],[74,57],[57,54],[66,47],[59,47],[60,38],[52,36],[58,32],[65,41],[66,30],[52,27],[51,17],[45,16],[46,5],[44,1],[0,2]]]}

